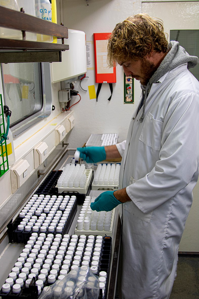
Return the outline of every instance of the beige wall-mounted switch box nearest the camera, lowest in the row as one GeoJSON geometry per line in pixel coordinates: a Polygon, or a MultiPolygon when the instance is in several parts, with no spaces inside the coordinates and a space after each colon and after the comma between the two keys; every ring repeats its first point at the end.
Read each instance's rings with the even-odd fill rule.
{"type": "Polygon", "coordinates": [[[25,183],[30,176],[30,165],[27,160],[21,160],[11,170],[12,193],[25,183]]]}

